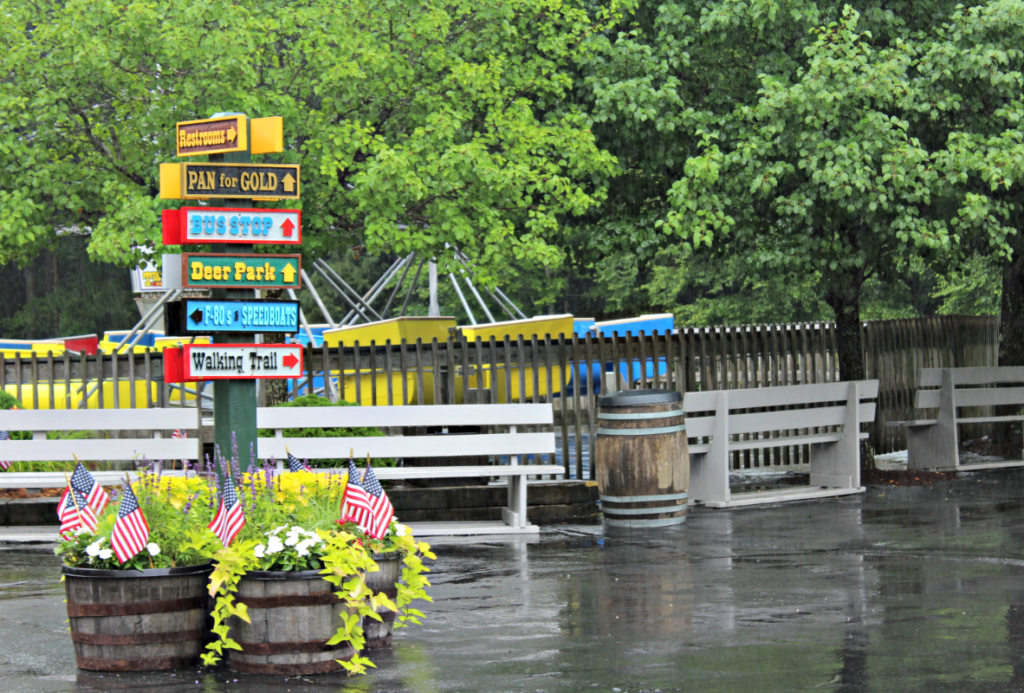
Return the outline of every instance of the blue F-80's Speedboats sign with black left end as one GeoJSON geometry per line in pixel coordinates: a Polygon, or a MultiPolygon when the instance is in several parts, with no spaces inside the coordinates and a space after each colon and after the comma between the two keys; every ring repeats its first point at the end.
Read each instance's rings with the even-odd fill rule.
{"type": "Polygon", "coordinates": [[[299,331],[298,301],[185,299],[169,304],[164,315],[169,337],[299,331]]]}

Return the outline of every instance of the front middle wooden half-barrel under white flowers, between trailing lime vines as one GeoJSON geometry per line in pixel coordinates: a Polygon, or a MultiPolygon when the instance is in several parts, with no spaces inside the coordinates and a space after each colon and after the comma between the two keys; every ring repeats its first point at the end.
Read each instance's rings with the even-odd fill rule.
{"type": "Polygon", "coordinates": [[[251,570],[239,581],[237,600],[251,622],[228,619],[230,638],[242,651],[229,652],[231,668],[245,674],[308,676],[342,668],[351,659],[348,642],[328,645],[347,607],[337,588],[318,570],[251,570]]]}

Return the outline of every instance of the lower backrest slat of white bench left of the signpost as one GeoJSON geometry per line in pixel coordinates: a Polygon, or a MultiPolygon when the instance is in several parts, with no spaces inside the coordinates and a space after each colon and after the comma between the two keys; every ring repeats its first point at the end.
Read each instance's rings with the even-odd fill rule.
{"type": "MultiPolygon", "coordinates": [[[[196,460],[189,438],[115,438],[110,440],[5,440],[3,459],[11,462],[83,462],[113,460],[196,460]]],[[[3,476],[3,475],[0,475],[3,476]]]]}

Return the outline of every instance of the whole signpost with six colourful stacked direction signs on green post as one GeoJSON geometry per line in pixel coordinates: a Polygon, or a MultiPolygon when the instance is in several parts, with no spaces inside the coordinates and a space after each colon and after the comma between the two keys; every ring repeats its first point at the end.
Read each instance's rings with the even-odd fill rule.
{"type": "MultiPolygon", "coordinates": [[[[295,301],[257,299],[254,289],[299,289],[301,256],[253,254],[256,244],[298,245],[298,210],[254,209],[253,201],[298,200],[300,167],[253,164],[253,154],[283,149],[281,118],[250,120],[244,114],[215,114],[178,123],[177,155],[208,155],[207,163],[160,165],[165,200],[209,200],[210,207],[184,207],[163,213],[165,246],[221,244],[214,253],[181,253],[170,284],[212,289],[210,299],[185,299],[165,308],[173,336],[213,335],[213,344],[186,344],[164,351],[169,383],[213,381],[214,438],[221,454],[238,445],[243,468],[256,449],[256,380],[300,378],[302,347],[292,344],[233,344],[255,341],[262,333],[296,333],[295,301]],[[227,205],[223,202],[233,201],[227,205]],[[218,206],[218,203],[222,206],[218,206]],[[222,244],[231,244],[223,246],[222,244]]],[[[215,246],[217,247],[217,246],[215,246]]],[[[168,274],[169,256],[165,260],[168,274]]]]}

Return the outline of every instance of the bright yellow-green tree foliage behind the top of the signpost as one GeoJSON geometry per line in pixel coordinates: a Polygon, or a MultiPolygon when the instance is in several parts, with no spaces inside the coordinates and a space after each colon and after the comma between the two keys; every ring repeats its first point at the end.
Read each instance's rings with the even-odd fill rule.
{"type": "MultiPolygon", "coordinates": [[[[303,252],[466,251],[557,264],[560,215],[613,159],[567,105],[568,66],[616,2],[0,1],[0,263],[55,226],[108,261],[158,252],[158,164],[177,121],[283,116],[303,165],[303,252]]],[[[497,269],[496,269],[497,268],[497,269]]]]}

